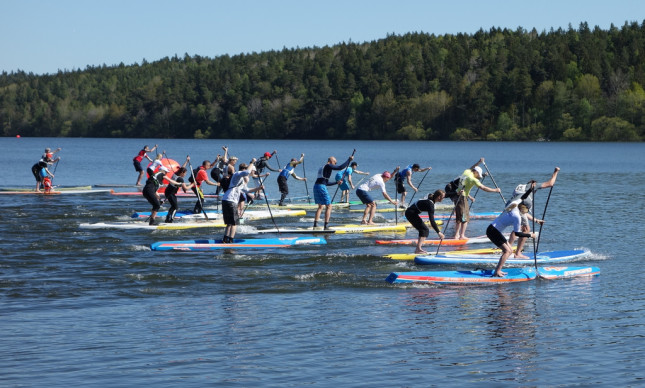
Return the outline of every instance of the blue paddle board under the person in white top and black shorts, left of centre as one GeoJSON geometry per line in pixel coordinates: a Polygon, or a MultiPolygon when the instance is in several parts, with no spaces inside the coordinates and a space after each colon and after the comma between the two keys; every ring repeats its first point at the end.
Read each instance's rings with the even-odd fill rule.
{"type": "Polygon", "coordinates": [[[284,248],[295,245],[327,244],[320,237],[280,237],[257,239],[234,239],[232,243],[222,243],[222,240],[188,240],[161,241],[150,244],[153,251],[209,251],[216,249],[266,249],[284,248]]]}

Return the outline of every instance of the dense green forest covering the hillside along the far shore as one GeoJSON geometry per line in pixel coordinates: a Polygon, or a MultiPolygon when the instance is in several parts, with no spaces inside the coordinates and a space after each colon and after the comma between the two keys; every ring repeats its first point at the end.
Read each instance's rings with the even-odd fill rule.
{"type": "Polygon", "coordinates": [[[0,135],[642,141],[645,21],[0,76],[0,135]]]}

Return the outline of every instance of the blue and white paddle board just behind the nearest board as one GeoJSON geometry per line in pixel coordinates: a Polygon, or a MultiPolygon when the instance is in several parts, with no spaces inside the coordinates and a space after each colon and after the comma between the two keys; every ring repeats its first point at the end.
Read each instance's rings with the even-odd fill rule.
{"type": "MultiPolygon", "coordinates": [[[[589,256],[590,251],[585,249],[573,249],[566,251],[540,252],[537,255],[538,264],[562,263],[581,259],[589,256]]],[[[420,255],[414,258],[418,265],[496,265],[501,254],[453,254],[446,252],[440,255],[420,255]]],[[[504,266],[530,266],[535,264],[533,257],[529,259],[515,259],[509,257],[504,266]]]]}

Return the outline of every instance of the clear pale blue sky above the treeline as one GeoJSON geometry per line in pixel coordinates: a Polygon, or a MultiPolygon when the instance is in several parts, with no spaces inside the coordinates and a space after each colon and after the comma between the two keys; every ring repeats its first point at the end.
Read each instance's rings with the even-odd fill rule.
{"type": "Polygon", "coordinates": [[[0,0],[0,71],[216,57],[491,27],[621,27],[645,0],[0,0]]]}

